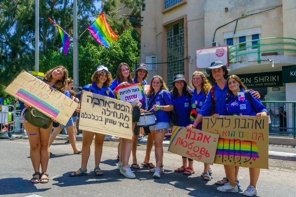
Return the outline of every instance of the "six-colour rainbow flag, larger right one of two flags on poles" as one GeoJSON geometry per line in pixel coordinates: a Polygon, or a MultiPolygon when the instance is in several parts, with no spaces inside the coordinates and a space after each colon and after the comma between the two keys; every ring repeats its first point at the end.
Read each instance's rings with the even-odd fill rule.
{"type": "Polygon", "coordinates": [[[109,48],[118,37],[108,25],[104,12],[88,28],[94,38],[103,46],[109,48]]]}

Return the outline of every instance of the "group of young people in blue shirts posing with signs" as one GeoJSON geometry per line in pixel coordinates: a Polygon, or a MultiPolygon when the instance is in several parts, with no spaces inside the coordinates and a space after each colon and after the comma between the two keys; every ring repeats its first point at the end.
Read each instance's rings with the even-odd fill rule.
{"type": "MultiPolygon", "coordinates": [[[[174,110],[177,115],[177,125],[180,127],[187,127],[187,130],[201,129],[202,117],[220,115],[250,115],[250,116],[266,116],[267,110],[260,102],[259,93],[250,91],[252,101],[249,99],[239,100],[238,94],[245,94],[247,88],[236,75],[230,75],[227,78],[227,67],[220,61],[215,61],[209,68],[206,69],[211,78],[215,80],[212,87],[206,76],[199,71],[195,71],[191,77],[191,88],[185,81],[183,74],[177,74],[172,83],[172,90],[170,91],[162,77],[155,75],[150,81],[150,89],[145,93],[145,100],[139,103],[140,112],[154,112],[156,116],[156,124],[149,127],[137,127],[136,122],[139,121],[139,116],[133,113],[132,130],[133,139],[120,138],[118,144],[118,160],[117,169],[127,178],[135,178],[135,174],[131,168],[139,169],[140,165],[137,161],[137,141],[141,130],[144,130],[147,139],[146,156],[142,165],[149,168],[149,172],[153,173],[154,178],[160,178],[163,172],[163,140],[166,132],[169,130],[170,116],[169,112],[174,110]],[[226,101],[227,100],[227,101],[226,101]],[[244,104],[244,107],[241,107],[244,104]],[[150,153],[154,142],[155,165],[150,161],[150,153]],[[129,165],[130,156],[132,154],[132,164],[129,165]]],[[[116,87],[125,87],[129,84],[140,83],[141,85],[148,85],[146,79],[148,76],[148,69],[145,64],[138,64],[135,69],[135,78],[132,78],[130,67],[126,63],[121,63],[116,71],[115,79],[112,80],[111,73],[106,66],[98,66],[97,70],[91,77],[92,84],[86,85],[82,88],[83,91],[92,92],[115,98],[116,87]]],[[[71,89],[71,81],[68,80],[68,70],[64,66],[57,66],[44,75],[44,82],[53,88],[61,91],[69,98],[71,98],[68,89],[71,89]]],[[[73,85],[73,81],[72,81],[73,85]]],[[[245,97],[245,95],[244,95],[245,97]]],[[[73,99],[73,98],[72,98],[73,99]]],[[[74,99],[76,100],[76,99],[74,99]]],[[[77,100],[76,100],[77,101],[77,100]]],[[[78,102],[78,101],[77,101],[78,102]]],[[[26,103],[21,103],[21,107],[30,107],[26,103]]],[[[134,111],[139,110],[137,106],[134,111]]],[[[79,109],[77,108],[77,111],[79,109]]],[[[135,113],[136,114],[136,113],[135,113]]],[[[46,183],[48,182],[48,174],[46,173],[49,159],[49,146],[54,140],[57,133],[62,128],[67,128],[69,131],[69,140],[73,146],[74,154],[81,153],[81,166],[78,170],[70,174],[71,177],[87,175],[87,163],[90,156],[90,146],[95,137],[95,175],[103,175],[103,170],[100,168],[100,162],[103,152],[103,144],[105,135],[91,131],[83,131],[82,134],[82,150],[78,150],[75,146],[74,138],[74,120],[73,117],[69,120],[67,125],[55,126],[55,129],[50,135],[52,125],[48,129],[42,129],[24,123],[24,127],[28,133],[30,141],[30,155],[32,164],[35,170],[33,174],[32,183],[46,183]],[[70,137],[71,135],[71,137],[70,137]],[[41,165],[41,172],[39,167],[41,165]]],[[[53,120],[53,125],[56,125],[53,120]]],[[[180,160],[181,161],[181,160],[180,160]]],[[[222,192],[238,192],[238,167],[225,165],[225,177],[215,183],[220,185],[217,190],[222,192]]],[[[182,157],[182,166],[177,167],[175,172],[183,172],[185,175],[194,174],[193,160],[182,157]]],[[[250,168],[250,185],[243,193],[245,196],[254,196],[257,194],[256,184],[259,178],[260,170],[257,168],[250,168]]],[[[201,174],[205,181],[211,180],[212,169],[209,164],[204,164],[204,169],[201,174]]]]}

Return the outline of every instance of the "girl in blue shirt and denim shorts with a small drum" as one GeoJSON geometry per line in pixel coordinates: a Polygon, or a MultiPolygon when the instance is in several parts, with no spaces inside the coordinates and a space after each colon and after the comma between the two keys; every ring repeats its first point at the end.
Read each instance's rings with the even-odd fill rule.
{"type": "Polygon", "coordinates": [[[156,75],[152,77],[148,98],[149,111],[156,113],[156,125],[149,127],[154,140],[156,167],[149,169],[149,172],[154,172],[154,178],[160,178],[160,173],[163,171],[162,142],[170,125],[168,112],[174,109],[174,102],[172,101],[171,94],[161,76],[156,75]]]}

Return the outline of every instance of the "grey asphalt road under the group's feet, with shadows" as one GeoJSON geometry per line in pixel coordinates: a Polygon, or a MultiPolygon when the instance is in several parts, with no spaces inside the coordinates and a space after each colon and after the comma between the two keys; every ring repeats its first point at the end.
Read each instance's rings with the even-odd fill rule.
{"type": "MultiPolygon", "coordinates": [[[[215,164],[213,180],[206,182],[200,177],[203,164],[194,162],[196,171],[192,176],[175,173],[181,166],[181,156],[168,153],[164,155],[164,169],[161,179],[152,178],[152,173],[143,167],[136,170],[136,179],[127,179],[116,169],[117,142],[105,142],[101,169],[103,176],[93,173],[94,157],[89,158],[87,176],[69,177],[69,174],[80,167],[81,156],[72,155],[71,145],[64,141],[55,141],[50,151],[54,154],[49,160],[47,173],[50,182],[32,184],[34,173],[29,157],[28,140],[0,140],[0,195],[9,197],[242,197],[242,192],[249,185],[248,168],[240,168],[239,180],[242,191],[238,194],[226,194],[216,190],[214,183],[224,177],[222,165],[215,164]]],[[[81,148],[81,142],[77,142],[81,148]]],[[[138,163],[145,157],[145,145],[138,146],[138,163]]],[[[164,148],[167,149],[166,147],[164,148]]],[[[154,154],[151,154],[154,156],[154,154]]],[[[154,160],[154,157],[152,158],[154,160]]],[[[131,161],[130,161],[131,162],[131,161]]],[[[155,162],[153,162],[155,163],[155,162]]],[[[296,163],[281,160],[269,160],[269,169],[261,169],[257,185],[260,197],[295,197],[296,196],[296,163]]]]}

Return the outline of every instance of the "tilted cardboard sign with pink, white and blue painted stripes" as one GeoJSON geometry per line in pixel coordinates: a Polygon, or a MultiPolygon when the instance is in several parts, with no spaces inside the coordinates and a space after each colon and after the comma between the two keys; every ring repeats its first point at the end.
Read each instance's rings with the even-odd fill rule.
{"type": "Polygon", "coordinates": [[[66,125],[77,103],[65,94],[23,70],[5,89],[13,97],[28,103],[43,114],[66,125]]]}

